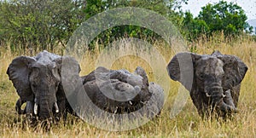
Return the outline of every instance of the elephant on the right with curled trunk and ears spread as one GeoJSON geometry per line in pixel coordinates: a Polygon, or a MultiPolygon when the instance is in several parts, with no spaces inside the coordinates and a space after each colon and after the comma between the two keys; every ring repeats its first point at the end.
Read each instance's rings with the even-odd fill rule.
{"type": "Polygon", "coordinates": [[[190,97],[202,118],[215,112],[226,118],[237,112],[241,81],[247,65],[235,55],[197,55],[183,52],[175,55],[166,66],[174,81],[189,90],[190,97]]]}

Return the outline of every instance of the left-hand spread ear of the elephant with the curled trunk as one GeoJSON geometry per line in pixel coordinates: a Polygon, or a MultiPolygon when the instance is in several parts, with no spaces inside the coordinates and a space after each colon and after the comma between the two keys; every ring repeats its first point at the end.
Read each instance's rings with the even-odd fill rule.
{"type": "Polygon", "coordinates": [[[199,60],[201,55],[184,52],[175,55],[167,65],[167,72],[174,81],[178,81],[189,91],[194,82],[195,61],[199,60]]]}

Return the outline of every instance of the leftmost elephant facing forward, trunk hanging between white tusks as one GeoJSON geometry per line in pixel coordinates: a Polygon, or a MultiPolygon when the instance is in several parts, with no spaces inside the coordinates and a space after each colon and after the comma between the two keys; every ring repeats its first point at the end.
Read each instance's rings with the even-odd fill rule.
{"type": "Polygon", "coordinates": [[[61,61],[68,60],[70,75],[79,75],[79,63],[71,57],[54,55],[44,50],[35,57],[19,56],[7,70],[9,79],[20,96],[16,111],[41,120],[66,116],[67,99],[61,80],[61,61]],[[25,110],[20,107],[26,102],[25,110]]]}

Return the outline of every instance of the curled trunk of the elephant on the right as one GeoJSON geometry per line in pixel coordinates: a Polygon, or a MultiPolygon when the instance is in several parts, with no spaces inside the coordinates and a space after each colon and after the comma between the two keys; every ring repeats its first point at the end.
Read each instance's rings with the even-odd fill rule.
{"type": "Polygon", "coordinates": [[[210,89],[213,106],[216,106],[221,112],[237,112],[236,106],[230,97],[230,90],[223,91],[223,88],[218,83],[213,83],[210,89]]]}

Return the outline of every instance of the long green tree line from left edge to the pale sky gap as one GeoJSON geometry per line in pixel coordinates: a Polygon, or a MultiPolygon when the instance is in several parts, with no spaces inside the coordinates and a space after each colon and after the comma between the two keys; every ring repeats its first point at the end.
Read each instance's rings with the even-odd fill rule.
{"type": "MultiPolygon", "coordinates": [[[[6,0],[0,1],[0,42],[12,49],[53,50],[65,46],[76,28],[91,16],[108,9],[138,7],[154,10],[182,24],[177,12],[188,0],[6,0]]],[[[129,15],[129,14],[128,14],[129,15]]],[[[141,26],[115,26],[98,36],[102,43],[119,37],[159,38],[141,26]]],[[[97,38],[96,38],[97,39],[97,38]]],[[[93,48],[93,46],[92,46],[93,48]]]]}

